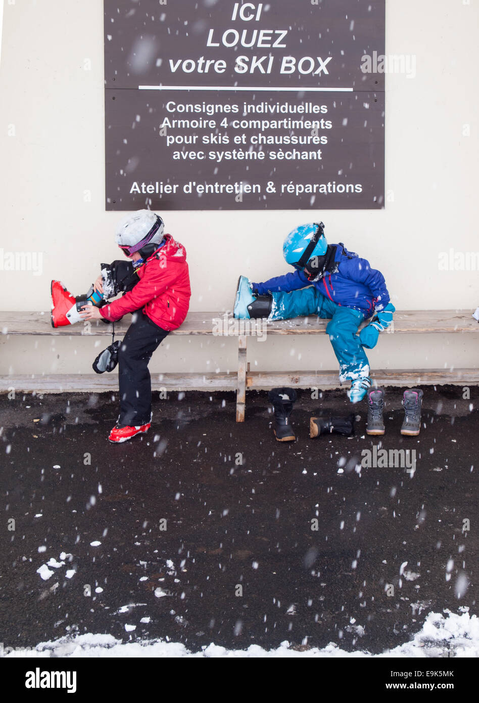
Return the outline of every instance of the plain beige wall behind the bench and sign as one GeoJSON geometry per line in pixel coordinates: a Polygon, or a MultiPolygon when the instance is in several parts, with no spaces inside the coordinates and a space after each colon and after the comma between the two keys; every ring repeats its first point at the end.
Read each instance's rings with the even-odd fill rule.
{"type": "MultiPolygon", "coordinates": [[[[240,273],[253,280],[285,273],[284,235],[317,218],[330,242],[383,271],[398,309],[479,305],[478,270],[439,268],[450,247],[479,251],[478,6],[386,0],[386,54],[414,56],[416,76],[386,76],[383,211],[164,214],[188,252],[192,310],[230,309],[240,273]]],[[[100,0],[4,0],[0,105],[0,247],[43,256],[40,275],[0,271],[0,305],[48,311],[51,278],[78,295],[100,261],[118,256],[113,230],[123,214],[104,209],[100,0]]],[[[0,373],[89,373],[104,341],[3,337],[0,373]]],[[[370,359],[381,368],[473,367],[476,347],[475,335],[388,335],[370,359]]],[[[336,368],[326,337],[254,342],[249,359],[258,370],[336,368]]],[[[150,368],[234,369],[235,340],[171,337],[150,368]]]]}

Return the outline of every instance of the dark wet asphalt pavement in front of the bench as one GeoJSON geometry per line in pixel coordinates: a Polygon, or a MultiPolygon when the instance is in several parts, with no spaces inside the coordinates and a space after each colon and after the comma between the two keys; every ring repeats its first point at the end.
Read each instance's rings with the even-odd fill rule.
{"type": "Polygon", "coordinates": [[[5,646],[92,632],[376,653],[428,612],[476,612],[478,388],[424,387],[409,438],[401,389],[386,390],[383,438],[365,434],[363,401],[354,437],[310,439],[311,415],[351,406],[299,391],[289,444],[265,392],[244,424],[232,393],[168,395],[148,434],[116,446],[111,394],[0,397],[5,646]],[[374,445],[414,449],[415,471],[361,467],[374,445]]]}

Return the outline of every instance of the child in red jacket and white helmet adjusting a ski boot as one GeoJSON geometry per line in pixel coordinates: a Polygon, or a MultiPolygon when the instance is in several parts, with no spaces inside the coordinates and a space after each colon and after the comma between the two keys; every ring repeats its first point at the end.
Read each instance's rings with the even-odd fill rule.
{"type": "Polygon", "coordinates": [[[88,297],[75,299],[59,281],[53,281],[52,324],[101,318],[114,322],[134,313],[118,349],[120,413],[108,437],[122,442],[150,429],[148,363],[166,335],[183,323],[191,288],[185,249],[164,234],[163,221],[154,212],[138,210],[124,219],[115,239],[130,262],[102,264],[102,274],[88,297]],[[124,293],[121,298],[105,303],[119,292],[124,293]]]}

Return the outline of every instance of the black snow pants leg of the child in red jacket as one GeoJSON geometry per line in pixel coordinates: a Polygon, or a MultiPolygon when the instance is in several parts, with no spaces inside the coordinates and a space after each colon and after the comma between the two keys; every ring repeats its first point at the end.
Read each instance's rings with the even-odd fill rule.
{"type": "Polygon", "coordinates": [[[118,353],[119,427],[146,425],[151,419],[151,378],[148,363],[168,332],[141,310],[133,312],[118,353]]]}

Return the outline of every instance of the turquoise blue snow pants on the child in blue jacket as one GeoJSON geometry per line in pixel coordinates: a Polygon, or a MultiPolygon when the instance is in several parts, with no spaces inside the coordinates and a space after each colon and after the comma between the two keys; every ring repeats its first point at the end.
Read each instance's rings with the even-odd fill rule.
{"type": "Polygon", "coordinates": [[[369,376],[369,361],[356,335],[365,315],[359,310],[341,307],[327,299],[314,286],[293,290],[290,293],[276,292],[273,296],[270,320],[286,320],[291,317],[317,315],[331,318],[326,333],[339,361],[339,380],[355,380],[369,376]]]}

